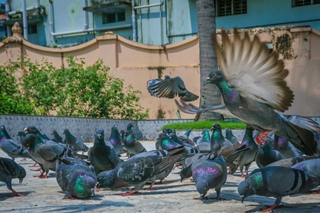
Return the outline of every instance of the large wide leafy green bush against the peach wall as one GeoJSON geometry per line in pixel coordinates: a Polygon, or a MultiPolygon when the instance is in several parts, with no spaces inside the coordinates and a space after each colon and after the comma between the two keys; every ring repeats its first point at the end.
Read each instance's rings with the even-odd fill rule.
{"type": "MultiPolygon", "coordinates": [[[[149,117],[149,109],[139,106],[137,94],[141,92],[131,85],[124,89],[124,80],[109,76],[110,68],[103,65],[102,60],[90,66],[71,55],[66,60],[68,66],[57,69],[46,59],[31,62],[23,58],[24,71],[19,85],[25,91],[24,98],[31,100],[36,114],[49,115],[55,111],[58,116],[149,117]]],[[[14,62],[9,64],[15,65],[14,62]]]]}

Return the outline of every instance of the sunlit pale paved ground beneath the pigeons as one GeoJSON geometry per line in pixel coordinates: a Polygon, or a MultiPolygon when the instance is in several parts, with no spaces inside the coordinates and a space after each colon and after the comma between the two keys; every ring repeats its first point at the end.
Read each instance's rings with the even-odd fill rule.
{"type": "MultiPolygon", "coordinates": [[[[154,149],[154,141],[142,141],[146,149],[154,149]]],[[[89,144],[92,146],[92,143],[89,144]]],[[[7,158],[3,151],[0,156],[7,158]]],[[[13,188],[25,197],[13,197],[11,191],[0,182],[0,212],[261,212],[264,205],[274,204],[273,197],[252,196],[245,202],[240,202],[237,191],[238,184],[243,180],[240,172],[228,175],[227,182],[222,188],[223,201],[193,200],[199,197],[194,182],[184,180],[180,182],[179,169],[173,170],[162,185],[154,185],[154,190],[141,190],[138,195],[128,197],[118,196],[125,190],[111,191],[100,189],[96,197],[87,200],[63,200],[68,192],[62,192],[55,180],[55,173],[50,172],[49,178],[34,178],[39,172],[31,171],[32,160],[16,163],[26,169],[27,175],[21,184],[14,179],[13,188]]],[[[250,170],[257,168],[254,164],[250,170]]],[[[284,181],[286,177],[283,177],[284,181]]],[[[148,186],[146,186],[148,187],[148,186]]],[[[320,212],[320,195],[299,195],[284,197],[282,209],[274,212],[320,212]]],[[[208,197],[215,197],[215,191],[209,190],[208,197]]]]}

